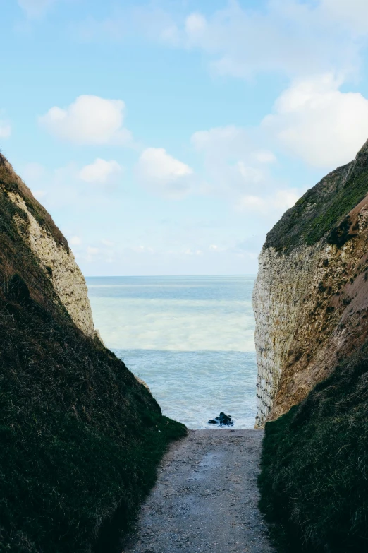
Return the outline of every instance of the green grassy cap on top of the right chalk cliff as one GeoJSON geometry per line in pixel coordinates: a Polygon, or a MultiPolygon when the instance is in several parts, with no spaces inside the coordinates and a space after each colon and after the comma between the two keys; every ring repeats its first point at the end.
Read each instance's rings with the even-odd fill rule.
{"type": "Polygon", "coordinates": [[[354,234],[349,234],[349,221],[344,218],[368,194],[367,166],[345,181],[349,167],[339,167],[308,190],[267,234],[265,247],[288,254],[323,237],[339,247],[345,244],[354,234]]]}

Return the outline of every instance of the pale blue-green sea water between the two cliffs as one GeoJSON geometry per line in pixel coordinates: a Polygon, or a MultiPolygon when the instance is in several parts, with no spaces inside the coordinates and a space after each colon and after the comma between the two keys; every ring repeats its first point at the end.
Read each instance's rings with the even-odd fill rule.
{"type": "Polygon", "coordinates": [[[254,276],[90,277],[106,347],[152,391],[167,417],[210,428],[221,411],[254,426],[254,276]]]}

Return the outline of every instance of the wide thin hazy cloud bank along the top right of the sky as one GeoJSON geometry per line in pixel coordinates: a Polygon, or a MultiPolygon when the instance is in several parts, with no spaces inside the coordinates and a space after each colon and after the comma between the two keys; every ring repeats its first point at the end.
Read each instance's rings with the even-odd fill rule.
{"type": "Polygon", "coordinates": [[[115,7],[102,20],[87,18],[75,32],[82,40],[143,35],[172,47],[198,49],[213,71],[240,78],[331,70],[351,75],[359,69],[362,41],[357,35],[368,32],[367,0],[266,0],[259,8],[229,0],[207,16],[185,12],[181,4],[171,12],[152,3],[115,7]]]}

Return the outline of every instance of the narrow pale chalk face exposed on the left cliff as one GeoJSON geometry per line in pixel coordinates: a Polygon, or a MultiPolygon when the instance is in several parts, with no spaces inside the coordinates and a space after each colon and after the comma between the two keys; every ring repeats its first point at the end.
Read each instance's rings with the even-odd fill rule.
{"type": "Polygon", "coordinates": [[[73,252],[68,251],[61,244],[56,244],[51,234],[39,225],[27,209],[25,201],[20,195],[8,192],[8,197],[27,214],[29,221],[27,231],[24,231],[24,225],[18,225],[19,232],[23,239],[27,240],[33,254],[39,259],[40,265],[54,286],[61,303],[75,325],[85,335],[94,338],[96,333],[90,300],[87,295],[87,285],[80,268],[75,263],[73,252]]]}

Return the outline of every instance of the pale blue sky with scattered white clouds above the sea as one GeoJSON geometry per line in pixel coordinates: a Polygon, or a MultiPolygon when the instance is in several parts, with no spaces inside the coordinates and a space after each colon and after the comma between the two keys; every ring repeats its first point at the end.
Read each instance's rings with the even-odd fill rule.
{"type": "Polygon", "coordinates": [[[368,138],[367,0],[0,8],[0,150],[85,275],[254,274],[368,138]]]}

